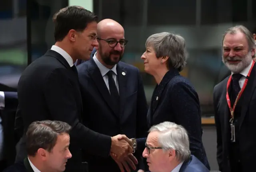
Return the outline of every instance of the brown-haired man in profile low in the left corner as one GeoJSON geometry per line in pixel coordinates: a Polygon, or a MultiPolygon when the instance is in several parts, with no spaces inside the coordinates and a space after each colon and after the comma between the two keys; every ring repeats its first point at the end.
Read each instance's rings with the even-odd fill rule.
{"type": "Polygon", "coordinates": [[[71,126],[62,121],[35,121],[26,133],[26,150],[23,161],[4,172],[63,172],[72,157],[70,144],[71,126]]]}

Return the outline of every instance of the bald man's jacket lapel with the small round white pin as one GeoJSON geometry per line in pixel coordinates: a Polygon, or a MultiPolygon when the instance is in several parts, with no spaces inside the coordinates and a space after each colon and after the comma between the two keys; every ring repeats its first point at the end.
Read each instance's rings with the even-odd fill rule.
{"type": "Polygon", "coordinates": [[[126,97],[127,71],[120,63],[118,63],[116,67],[119,85],[120,114],[123,114],[126,97]]]}

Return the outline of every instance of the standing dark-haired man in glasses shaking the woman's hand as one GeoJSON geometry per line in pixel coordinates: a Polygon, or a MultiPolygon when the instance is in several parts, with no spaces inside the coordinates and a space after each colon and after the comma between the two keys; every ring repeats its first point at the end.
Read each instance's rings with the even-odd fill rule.
{"type": "MultiPolygon", "coordinates": [[[[76,66],[77,59],[89,59],[98,45],[97,17],[78,6],[61,9],[53,17],[55,45],[45,55],[31,63],[18,82],[18,112],[21,114],[24,133],[33,121],[58,120],[72,126],[70,152],[72,158],[66,171],[84,171],[81,149],[86,153],[108,157],[110,152],[118,160],[132,152],[132,147],[119,135],[110,137],[92,131],[80,123],[83,111],[76,66]]],[[[90,111],[90,109],[85,109],[90,111]]],[[[85,112],[86,113],[86,112],[85,112]]],[[[26,156],[24,134],[16,161],[26,156]]]]}

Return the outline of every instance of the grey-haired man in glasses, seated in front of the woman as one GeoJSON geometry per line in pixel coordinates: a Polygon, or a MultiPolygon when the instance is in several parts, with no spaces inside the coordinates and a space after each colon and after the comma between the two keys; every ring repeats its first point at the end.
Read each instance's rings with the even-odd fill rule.
{"type": "Polygon", "coordinates": [[[191,155],[188,133],[182,125],[163,122],[150,128],[143,157],[150,172],[209,172],[191,155]]]}

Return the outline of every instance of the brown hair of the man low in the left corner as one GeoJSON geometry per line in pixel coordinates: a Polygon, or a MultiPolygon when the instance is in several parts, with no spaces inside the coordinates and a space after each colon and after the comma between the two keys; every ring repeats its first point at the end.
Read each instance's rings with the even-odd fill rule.
{"type": "Polygon", "coordinates": [[[26,133],[26,151],[35,156],[38,149],[52,151],[58,135],[69,134],[71,126],[62,121],[35,121],[28,126],[26,133]]]}

